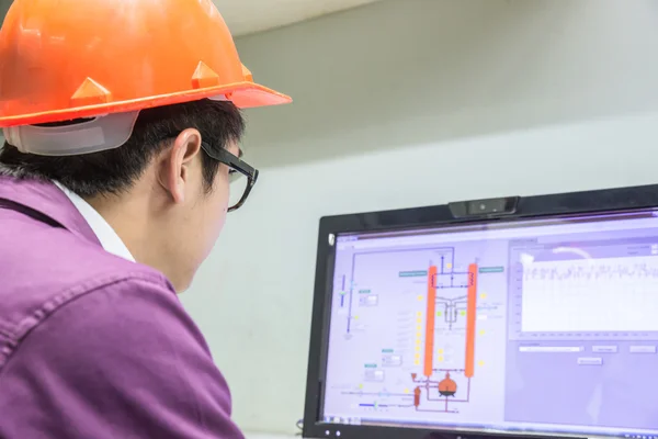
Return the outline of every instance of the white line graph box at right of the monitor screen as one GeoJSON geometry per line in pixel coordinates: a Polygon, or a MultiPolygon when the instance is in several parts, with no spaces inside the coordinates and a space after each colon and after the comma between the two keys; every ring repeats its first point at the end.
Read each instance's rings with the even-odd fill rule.
{"type": "Polygon", "coordinates": [[[658,331],[658,257],[526,262],[523,331],[658,331]]]}

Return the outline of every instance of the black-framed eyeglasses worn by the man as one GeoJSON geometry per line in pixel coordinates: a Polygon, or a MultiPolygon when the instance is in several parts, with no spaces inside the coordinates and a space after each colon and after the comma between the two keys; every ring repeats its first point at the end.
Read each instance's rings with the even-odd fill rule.
{"type": "Polygon", "coordinates": [[[230,154],[224,148],[213,149],[202,142],[201,148],[214,160],[219,161],[230,168],[230,196],[228,212],[237,211],[249,198],[249,193],[258,180],[258,169],[242,161],[239,157],[230,154]]]}

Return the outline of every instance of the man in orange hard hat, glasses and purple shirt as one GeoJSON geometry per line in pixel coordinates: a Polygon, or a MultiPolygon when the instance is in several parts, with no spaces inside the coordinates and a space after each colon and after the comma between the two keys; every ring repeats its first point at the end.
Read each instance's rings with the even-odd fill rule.
{"type": "Polygon", "coordinates": [[[287,102],[253,83],[209,0],[14,1],[0,438],[242,437],[175,293],[257,181],[238,108],[287,102]]]}

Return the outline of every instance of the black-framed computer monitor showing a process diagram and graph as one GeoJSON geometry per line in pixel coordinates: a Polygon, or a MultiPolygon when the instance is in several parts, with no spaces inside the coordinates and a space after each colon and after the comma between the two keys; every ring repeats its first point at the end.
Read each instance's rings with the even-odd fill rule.
{"type": "Polygon", "coordinates": [[[658,185],[330,216],[318,248],[305,437],[658,438],[658,185]]]}

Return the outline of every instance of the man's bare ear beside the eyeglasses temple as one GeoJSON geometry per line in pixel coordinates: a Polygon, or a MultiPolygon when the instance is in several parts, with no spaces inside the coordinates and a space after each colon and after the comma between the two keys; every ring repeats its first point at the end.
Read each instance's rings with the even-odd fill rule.
{"type": "Polygon", "coordinates": [[[159,181],[171,194],[174,203],[185,201],[185,188],[190,184],[190,166],[201,151],[201,133],[194,128],[182,131],[171,148],[162,157],[159,181]]]}

